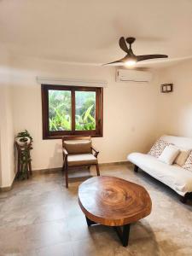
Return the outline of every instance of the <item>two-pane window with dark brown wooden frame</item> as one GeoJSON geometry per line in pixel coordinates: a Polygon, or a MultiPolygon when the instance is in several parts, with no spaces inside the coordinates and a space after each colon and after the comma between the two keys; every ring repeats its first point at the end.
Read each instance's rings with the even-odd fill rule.
{"type": "Polygon", "coordinates": [[[43,138],[102,137],[102,88],[42,84],[43,138]]]}

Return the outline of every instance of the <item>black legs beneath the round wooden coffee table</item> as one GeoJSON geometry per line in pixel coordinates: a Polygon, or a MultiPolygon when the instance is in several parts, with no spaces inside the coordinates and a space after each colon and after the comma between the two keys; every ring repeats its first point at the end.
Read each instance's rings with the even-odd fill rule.
{"type": "MultiPolygon", "coordinates": [[[[97,224],[96,222],[90,220],[86,217],[87,225],[90,227],[93,224],[97,224]]],[[[130,236],[130,224],[125,224],[123,226],[113,226],[113,229],[117,232],[119,236],[119,240],[122,242],[124,247],[128,246],[129,236],[130,236]]]]}

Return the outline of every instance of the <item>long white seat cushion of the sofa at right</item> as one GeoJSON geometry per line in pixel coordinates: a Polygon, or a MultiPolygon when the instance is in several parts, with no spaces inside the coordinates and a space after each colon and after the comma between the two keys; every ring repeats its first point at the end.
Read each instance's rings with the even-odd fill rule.
{"type": "Polygon", "coordinates": [[[192,172],[184,170],[181,166],[169,166],[150,154],[131,153],[127,159],[174,189],[177,194],[183,196],[187,192],[192,192],[192,172]]]}

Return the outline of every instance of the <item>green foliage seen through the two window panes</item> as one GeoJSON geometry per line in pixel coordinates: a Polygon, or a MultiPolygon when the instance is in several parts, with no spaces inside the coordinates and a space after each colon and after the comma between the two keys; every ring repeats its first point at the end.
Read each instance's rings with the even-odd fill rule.
{"type": "MultiPolygon", "coordinates": [[[[49,131],[71,130],[71,91],[49,90],[49,131]]],[[[95,91],[75,91],[75,130],[96,130],[95,91]]]]}

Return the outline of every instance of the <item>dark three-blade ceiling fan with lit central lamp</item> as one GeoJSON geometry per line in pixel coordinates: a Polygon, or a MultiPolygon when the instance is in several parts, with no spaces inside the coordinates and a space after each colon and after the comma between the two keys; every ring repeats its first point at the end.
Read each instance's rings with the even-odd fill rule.
{"type": "Polygon", "coordinates": [[[126,39],[124,37],[119,38],[119,46],[121,49],[125,51],[126,53],[125,57],[118,61],[109,62],[104,65],[110,65],[114,63],[124,63],[125,66],[131,67],[134,64],[136,64],[137,61],[146,61],[151,59],[168,57],[168,55],[134,55],[131,49],[131,44],[133,44],[135,40],[136,38],[126,38],[126,39]],[[129,44],[129,48],[127,47],[126,43],[129,44]]]}

